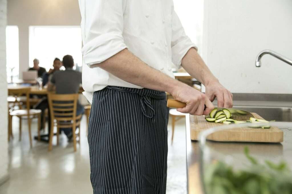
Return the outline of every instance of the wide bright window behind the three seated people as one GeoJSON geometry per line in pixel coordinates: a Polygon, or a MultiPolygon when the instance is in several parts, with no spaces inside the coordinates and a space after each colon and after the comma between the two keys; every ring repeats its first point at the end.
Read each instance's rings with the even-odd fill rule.
{"type": "MultiPolygon", "coordinates": [[[[82,38],[80,27],[75,26],[30,26],[29,27],[29,67],[39,59],[39,66],[48,71],[53,61],[69,54],[75,65],[82,66],[82,38]]],[[[76,68],[76,67],[74,67],[76,68]]]]}

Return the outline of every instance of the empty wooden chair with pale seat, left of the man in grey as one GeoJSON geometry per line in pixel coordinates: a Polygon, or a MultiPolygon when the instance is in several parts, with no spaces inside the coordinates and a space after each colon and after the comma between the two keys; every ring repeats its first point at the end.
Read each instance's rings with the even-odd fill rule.
{"type": "Polygon", "coordinates": [[[8,116],[8,141],[10,140],[10,137],[13,137],[12,117],[17,116],[19,118],[19,141],[21,140],[22,117],[27,117],[29,142],[30,142],[30,147],[32,147],[31,120],[33,118],[38,118],[38,140],[40,140],[41,139],[41,134],[40,134],[41,110],[30,109],[29,91],[30,91],[30,88],[8,89],[8,95],[14,97],[15,104],[20,104],[20,101],[18,101],[18,99],[23,99],[22,96],[26,97],[25,101],[21,100],[21,105],[22,106],[25,105],[26,109],[22,109],[22,106],[20,106],[19,110],[12,110],[11,112],[9,112],[9,116],[8,116]]]}

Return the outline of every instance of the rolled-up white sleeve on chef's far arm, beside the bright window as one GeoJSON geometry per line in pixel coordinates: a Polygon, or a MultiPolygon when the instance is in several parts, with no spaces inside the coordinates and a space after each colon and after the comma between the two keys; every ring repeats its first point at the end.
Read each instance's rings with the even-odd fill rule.
{"type": "Polygon", "coordinates": [[[187,54],[190,48],[198,50],[197,46],[192,43],[190,38],[185,34],[185,30],[178,18],[178,15],[173,10],[172,13],[172,36],[171,36],[171,52],[172,62],[177,68],[180,68],[182,59],[187,54]]]}

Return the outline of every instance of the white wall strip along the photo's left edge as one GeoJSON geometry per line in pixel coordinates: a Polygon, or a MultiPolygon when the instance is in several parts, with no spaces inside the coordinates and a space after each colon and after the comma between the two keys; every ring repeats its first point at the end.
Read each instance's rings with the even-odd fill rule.
{"type": "Polygon", "coordinates": [[[0,0],[0,184],[8,176],[8,142],[7,142],[7,82],[6,82],[6,19],[7,1],[0,0]]]}

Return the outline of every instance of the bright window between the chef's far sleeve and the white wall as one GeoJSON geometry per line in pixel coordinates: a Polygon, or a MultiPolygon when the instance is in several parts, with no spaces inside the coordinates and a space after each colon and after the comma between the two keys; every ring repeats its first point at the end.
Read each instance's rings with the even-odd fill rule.
{"type": "Polygon", "coordinates": [[[197,45],[199,54],[202,54],[204,0],[174,0],[173,3],[185,33],[197,45]]]}

